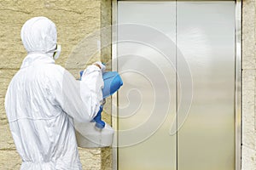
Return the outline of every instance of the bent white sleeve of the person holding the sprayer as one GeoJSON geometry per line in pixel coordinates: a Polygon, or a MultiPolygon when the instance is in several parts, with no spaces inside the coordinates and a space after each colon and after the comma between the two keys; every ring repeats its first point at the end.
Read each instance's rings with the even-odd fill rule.
{"type": "Polygon", "coordinates": [[[102,71],[96,65],[84,70],[81,81],[64,70],[61,94],[56,98],[61,109],[76,122],[90,122],[100,109],[103,86],[102,71]]]}

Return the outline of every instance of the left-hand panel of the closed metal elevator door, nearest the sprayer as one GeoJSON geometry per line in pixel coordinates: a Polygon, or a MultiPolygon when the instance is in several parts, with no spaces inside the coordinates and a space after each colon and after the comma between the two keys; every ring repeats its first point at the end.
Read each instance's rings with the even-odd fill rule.
{"type": "Polygon", "coordinates": [[[176,170],[175,2],[118,2],[118,169],[176,170]]]}

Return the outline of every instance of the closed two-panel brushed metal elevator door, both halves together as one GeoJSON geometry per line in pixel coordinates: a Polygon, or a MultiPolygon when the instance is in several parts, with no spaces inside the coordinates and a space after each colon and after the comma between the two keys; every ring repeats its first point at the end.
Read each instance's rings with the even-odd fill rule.
{"type": "Polygon", "coordinates": [[[235,170],[235,2],[118,1],[119,170],[235,170]]]}

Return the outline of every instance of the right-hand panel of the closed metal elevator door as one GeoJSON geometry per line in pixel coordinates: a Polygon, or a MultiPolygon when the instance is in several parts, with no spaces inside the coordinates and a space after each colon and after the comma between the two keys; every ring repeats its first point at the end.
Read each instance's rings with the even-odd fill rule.
{"type": "MultiPolygon", "coordinates": [[[[177,169],[234,170],[235,2],[177,2],[177,47],[177,72],[184,58],[193,80],[189,115],[177,133],[177,169]]],[[[189,100],[187,90],[177,97],[189,100]]],[[[178,125],[186,114],[179,107],[178,125]]]]}

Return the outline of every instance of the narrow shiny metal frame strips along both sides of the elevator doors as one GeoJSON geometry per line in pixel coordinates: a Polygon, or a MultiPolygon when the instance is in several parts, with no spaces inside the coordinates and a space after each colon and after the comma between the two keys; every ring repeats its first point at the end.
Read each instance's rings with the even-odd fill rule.
{"type": "MultiPolygon", "coordinates": [[[[118,1],[152,1],[152,2],[174,2],[170,0],[112,0],[112,70],[118,71],[118,63],[117,63],[117,15],[118,15],[118,1]]],[[[177,0],[179,1],[179,0],[177,0]]],[[[192,0],[183,0],[184,1],[192,1],[192,0]]],[[[200,0],[194,0],[194,1],[200,1],[200,0]]],[[[207,0],[205,0],[207,1],[207,0]]],[[[222,0],[212,0],[212,1],[222,1],[222,0]]],[[[227,0],[228,1],[228,0],[227,0]]],[[[181,1],[182,2],[182,1],[181,1]]],[[[241,170],[241,0],[236,0],[236,26],[235,26],[235,38],[236,38],[236,54],[235,54],[235,142],[236,142],[236,148],[235,148],[235,163],[236,163],[236,170],[241,170]]],[[[118,108],[116,107],[118,105],[118,97],[117,94],[113,94],[112,97],[112,126],[114,129],[118,130],[118,108]]],[[[117,144],[117,137],[114,138],[114,143],[117,144]]],[[[118,148],[113,147],[113,160],[112,160],[112,167],[113,170],[118,170],[118,148]]]]}

